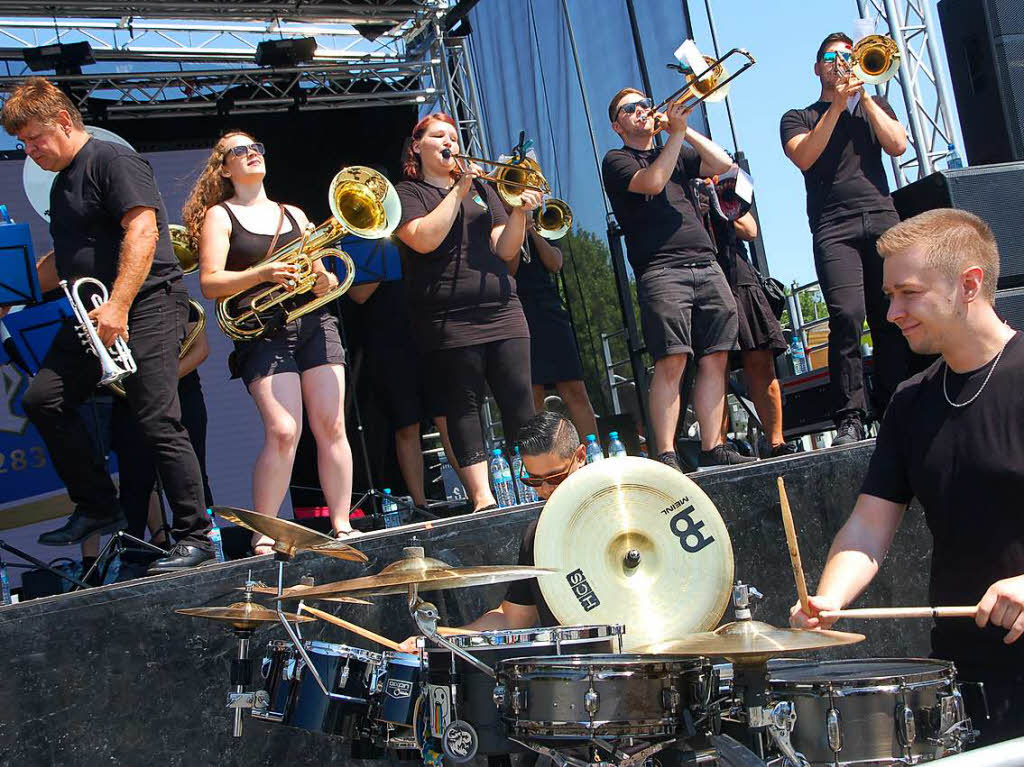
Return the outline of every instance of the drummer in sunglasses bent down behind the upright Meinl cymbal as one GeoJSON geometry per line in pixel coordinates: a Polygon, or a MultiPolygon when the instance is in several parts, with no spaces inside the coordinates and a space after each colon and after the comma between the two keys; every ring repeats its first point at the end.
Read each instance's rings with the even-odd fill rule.
{"type": "MultiPolygon", "coordinates": [[[[571,421],[557,413],[538,413],[519,428],[516,436],[523,463],[522,481],[536,488],[537,494],[545,501],[569,474],[587,463],[587,453],[580,443],[575,427],[571,421]]],[[[523,531],[517,564],[534,565],[537,522],[535,519],[523,531]]],[[[439,627],[438,633],[452,636],[480,631],[529,629],[539,623],[541,626],[558,626],[558,621],[544,601],[537,579],[532,578],[509,584],[502,603],[472,623],[460,628],[439,627]]],[[[401,643],[401,649],[416,652],[416,639],[415,636],[409,637],[401,643]]]]}

